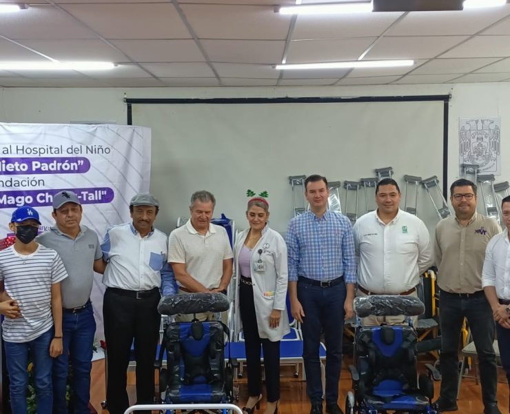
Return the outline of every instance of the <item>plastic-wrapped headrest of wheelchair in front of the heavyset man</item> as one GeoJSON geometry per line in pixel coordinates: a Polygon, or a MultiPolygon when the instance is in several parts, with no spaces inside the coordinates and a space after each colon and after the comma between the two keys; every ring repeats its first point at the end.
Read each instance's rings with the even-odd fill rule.
{"type": "Polygon", "coordinates": [[[371,295],[354,299],[354,312],[359,317],[417,316],[425,312],[425,305],[418,297],[408,295],[371,295]]]}

